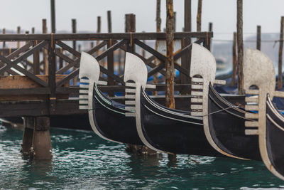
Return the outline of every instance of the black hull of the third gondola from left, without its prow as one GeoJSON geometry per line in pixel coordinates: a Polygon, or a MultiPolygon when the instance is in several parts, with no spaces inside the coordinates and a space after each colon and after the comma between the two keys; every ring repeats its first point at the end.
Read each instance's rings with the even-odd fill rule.
{"type": "Polygon", "coordinates": [[[217,147],[234,157],[261,160],[258,136],[245,134],[248,127],[245,127],[244,110],[224,100],[212,85],[209,85],[208,113],[209,133],[217,147]]]}

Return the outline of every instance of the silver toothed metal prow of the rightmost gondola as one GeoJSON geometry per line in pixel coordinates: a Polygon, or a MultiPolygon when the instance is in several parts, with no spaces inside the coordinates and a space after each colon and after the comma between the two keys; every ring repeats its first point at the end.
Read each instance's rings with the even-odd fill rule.
{"type": "Polygon", "coordinates": [[[267,98],[273,100],[273,96],[284,97],[284,93],[275,91],[275,70],[273,63],[268,56],[261,51],[246,49],[246,58],[244,62],[244,90],[248,95],[257,95],[256,97],[246,97],[246,110],[256,110],[258,113],[246,114],[247,120],[254,119],[253,121],[246,121],[245,126],[250,127],[251,130],[246,130],[248,135],[258,135],[259,149],[261,158],[267,169],[275,176],[284,180],[274,164],[271,162],[271,157],[268,153],[271,152],[269,142],[271,139],[267,137],[267,98]],[[257,71],[257,72],[256,72],[257,71]],[[250,87],[256,85],[257,90],[251,90],[250,87]],[[268,141],[268,143],[267,143],[268,141]]]}

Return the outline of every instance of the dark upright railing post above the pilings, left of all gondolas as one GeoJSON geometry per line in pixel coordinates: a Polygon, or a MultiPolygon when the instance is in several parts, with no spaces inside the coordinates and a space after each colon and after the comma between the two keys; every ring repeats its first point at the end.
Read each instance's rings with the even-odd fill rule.
{"type": "Polygon", "coordinates": [[[56,79],[55,79],[55,41],[53,38],[53,33],[51,33],[48,46],[48,86],[50,88],[49,96],[49,111],[50,115],[55,113],[55,103],[56,103],[56,79]]]}

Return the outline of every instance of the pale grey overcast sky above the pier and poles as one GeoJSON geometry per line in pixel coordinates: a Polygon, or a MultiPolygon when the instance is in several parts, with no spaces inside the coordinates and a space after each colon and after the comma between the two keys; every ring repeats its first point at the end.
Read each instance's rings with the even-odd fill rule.
{"type": "MultiPolygon", "coordinates": [[[[161,0],[162,28],[165,28],[165,0],[161,0]]],[[[197,1],[192,0],[192,30],[196,30],[197,1]]],[[[124,32],[124,14],[136,14],[136,31],[155,31],[155,0],[55,0],[57,31],[71,31],[71,19],[77,19],[77,31],[97,31],[97,16],[102,16],[102,32],[107,31],[107,11],[111,10],[114,32],[124,32]]],[[[182,31],[184,1],[174,0],[177,31],[182,31]]],[[[0,28],[41,32],[41,20],[48,20],[50,31],[50,0],[1,1],[0,28]]],[[[283,0],[244,0],[244,33],[280,31],[284,16],[283,0]]],[[[214,38],[231,38],[236,31],[236,0],[203,0],[202,31],[213,23],[214,38]]]]}

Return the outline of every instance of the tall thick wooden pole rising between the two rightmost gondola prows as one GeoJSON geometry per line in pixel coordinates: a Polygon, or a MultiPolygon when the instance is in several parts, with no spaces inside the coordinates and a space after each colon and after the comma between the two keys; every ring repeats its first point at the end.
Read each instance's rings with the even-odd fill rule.
{"type": "Polygon", "coordinates": [[[243,0],[237,0],[236,35],[238,44],[238,93],[244,95],[244,41],[243,41],[243,0]]]}

